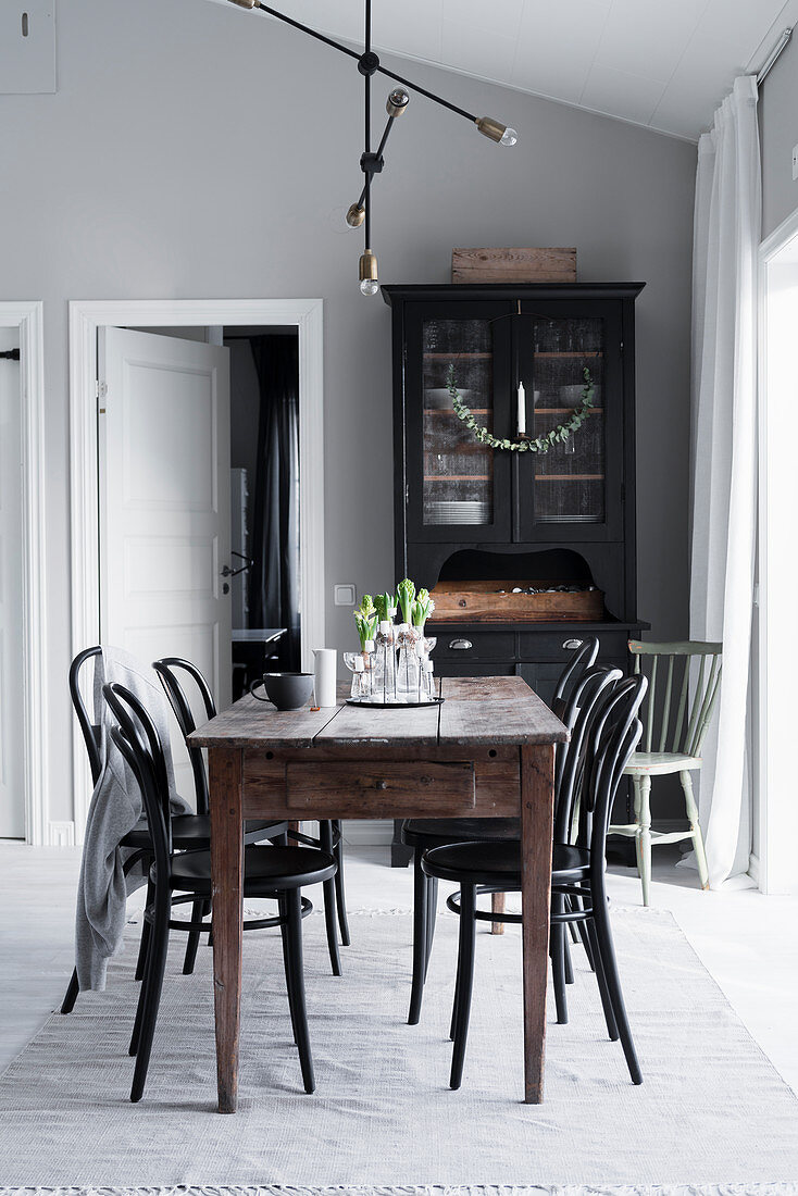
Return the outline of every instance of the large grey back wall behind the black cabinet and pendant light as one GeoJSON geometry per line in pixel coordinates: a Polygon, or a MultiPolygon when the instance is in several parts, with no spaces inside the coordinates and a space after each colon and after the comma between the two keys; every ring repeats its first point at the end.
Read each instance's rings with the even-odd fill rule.
{"type": "MultiPolygon", "coordinates": [[[[316,43],[199,0],[71,0],[59,92],[0,97],[2,298],[45,303],[51,817],[71,816],[67,300],[322,297],[331,584],[391,579],[389,311],[342,224],[360,185],[361,80],[316,43]]],[[[422,98],[376,184],[380,277],[447,281],[452,245],[577,245],[583,280],[639,304],[640,614],[687,631],[695,148],[397,63],[520,132],[507,151],[422,98]]],[[[401,71],[401,73],[403,73],[401,71]]],[[[328,642],[353,643],[331,604],[328,642]]]]}

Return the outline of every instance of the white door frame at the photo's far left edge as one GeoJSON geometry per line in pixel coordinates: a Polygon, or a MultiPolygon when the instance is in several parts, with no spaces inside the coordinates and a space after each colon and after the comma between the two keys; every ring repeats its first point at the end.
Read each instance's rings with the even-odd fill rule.
{"type": "Polygon", "coordinates": [[[51,842],[48,822],[47,703],[44,661],[44,324],[37,300],[0,303],[0,328],[19,335],[19,398],[23,432],[23,769],[25,842],[51,842]]]}

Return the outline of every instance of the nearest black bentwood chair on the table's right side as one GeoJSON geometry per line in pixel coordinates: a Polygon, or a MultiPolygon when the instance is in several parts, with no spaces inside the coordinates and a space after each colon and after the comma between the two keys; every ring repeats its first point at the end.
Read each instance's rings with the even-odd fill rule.
{"type": "MultiPolygon", "coordinates": [[[[620,1037],[633,1084],[642,1084],[642,1074],[632,1041],[615,959],[604,886],[604,849],[613,800],[623,769],[642,734],[638,709],[645,690],[644,677],[626,679],[605,690],[593,707],[591,725],[580,752],[579,769],[584,775],[584,783],[577,841],[554,843],[552,867],[553,910],[556,909],[552,914],[552,921],[555,925],[578,922],[587,927],[609,1037],[614,1042],[620,1037]],[[555,902],[559,904],[555,905],[555,902]]],[[[425,853],[422,868],[427,875],[453,880],[459,885],[459,901],[455,893],[447,902],[461,920],[451,1036],[455,1048],[450,1076],[450,1086],[458,1088],[463,1079],[474,987],[476,922],[497,916],[476,909],[477,886],[518,892],[520,843],[493,841],[433,848],[425,853]]],[[[507,922],[520,921],[518,914],[502,916],[507,922]]]]}

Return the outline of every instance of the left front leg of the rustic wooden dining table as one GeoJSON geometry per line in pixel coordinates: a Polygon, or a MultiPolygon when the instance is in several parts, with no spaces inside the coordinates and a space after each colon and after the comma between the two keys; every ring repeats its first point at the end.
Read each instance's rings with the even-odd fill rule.
{"type": "Polygon", "coordinates": [[[219,1112],[233,1113],[238,1102],[244,886],[242,752],[212,748],[208,763],[217,1084],[219,1112]]]}

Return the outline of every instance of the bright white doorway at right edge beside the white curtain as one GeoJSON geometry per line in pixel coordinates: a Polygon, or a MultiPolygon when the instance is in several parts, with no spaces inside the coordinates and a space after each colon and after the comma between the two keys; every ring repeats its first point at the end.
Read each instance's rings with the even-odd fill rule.
{"type": "Polygon", "coordinates": [[[760,248],[759,783],[754,858],[767,893],[798,892],[793,596],[798,210],[760,248]]]}

